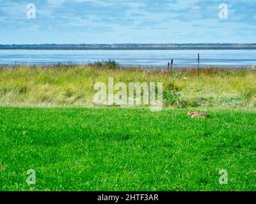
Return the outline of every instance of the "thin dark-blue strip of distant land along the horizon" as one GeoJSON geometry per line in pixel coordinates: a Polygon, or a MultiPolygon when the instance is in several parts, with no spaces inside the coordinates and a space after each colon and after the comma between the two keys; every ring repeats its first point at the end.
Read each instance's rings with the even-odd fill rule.
{"type": "Polygon", "coordinates": [[[0,45],[0,50],[256,50],[256,43],[0,45]]]}

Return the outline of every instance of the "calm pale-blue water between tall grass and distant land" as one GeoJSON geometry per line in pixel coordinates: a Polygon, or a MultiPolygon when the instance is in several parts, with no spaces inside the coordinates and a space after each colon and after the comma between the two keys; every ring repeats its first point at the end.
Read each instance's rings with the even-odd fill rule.
{"type": "Polygon", "coordinates": [[[0,50],[0,64],[56,64],[113,59],[122,66],[252,66],[256,50],[0,50]]]}

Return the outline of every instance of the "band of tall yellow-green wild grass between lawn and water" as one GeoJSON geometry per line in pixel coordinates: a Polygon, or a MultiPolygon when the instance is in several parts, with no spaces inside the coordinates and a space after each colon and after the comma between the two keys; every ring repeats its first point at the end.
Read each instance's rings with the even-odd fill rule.
{"type": "Polygon", "coordinates": [[[88,66],[15,66],[0,69],[1,106],[93,106],[95,82],[163,82],[164,106],[256,107],[253,69],[123,69],[113,62],[88,66]]]}

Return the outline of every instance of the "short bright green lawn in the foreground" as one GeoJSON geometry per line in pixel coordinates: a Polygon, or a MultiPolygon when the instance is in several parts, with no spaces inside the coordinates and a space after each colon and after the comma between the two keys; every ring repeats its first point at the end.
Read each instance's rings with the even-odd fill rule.
{"type": "Polygon", "coordinates": [[[0,108],[0,190],[255,191],[256,112],[187,111],[0,108]]]}

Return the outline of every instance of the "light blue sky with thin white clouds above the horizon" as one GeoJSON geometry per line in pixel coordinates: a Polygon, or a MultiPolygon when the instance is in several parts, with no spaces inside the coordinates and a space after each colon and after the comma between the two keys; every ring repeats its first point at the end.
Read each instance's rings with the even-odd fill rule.
{"type": "Polygon", "coordinates": [[[0,44],[25,43],[256,43],[256,1],[0,0],[0,44]]]}

